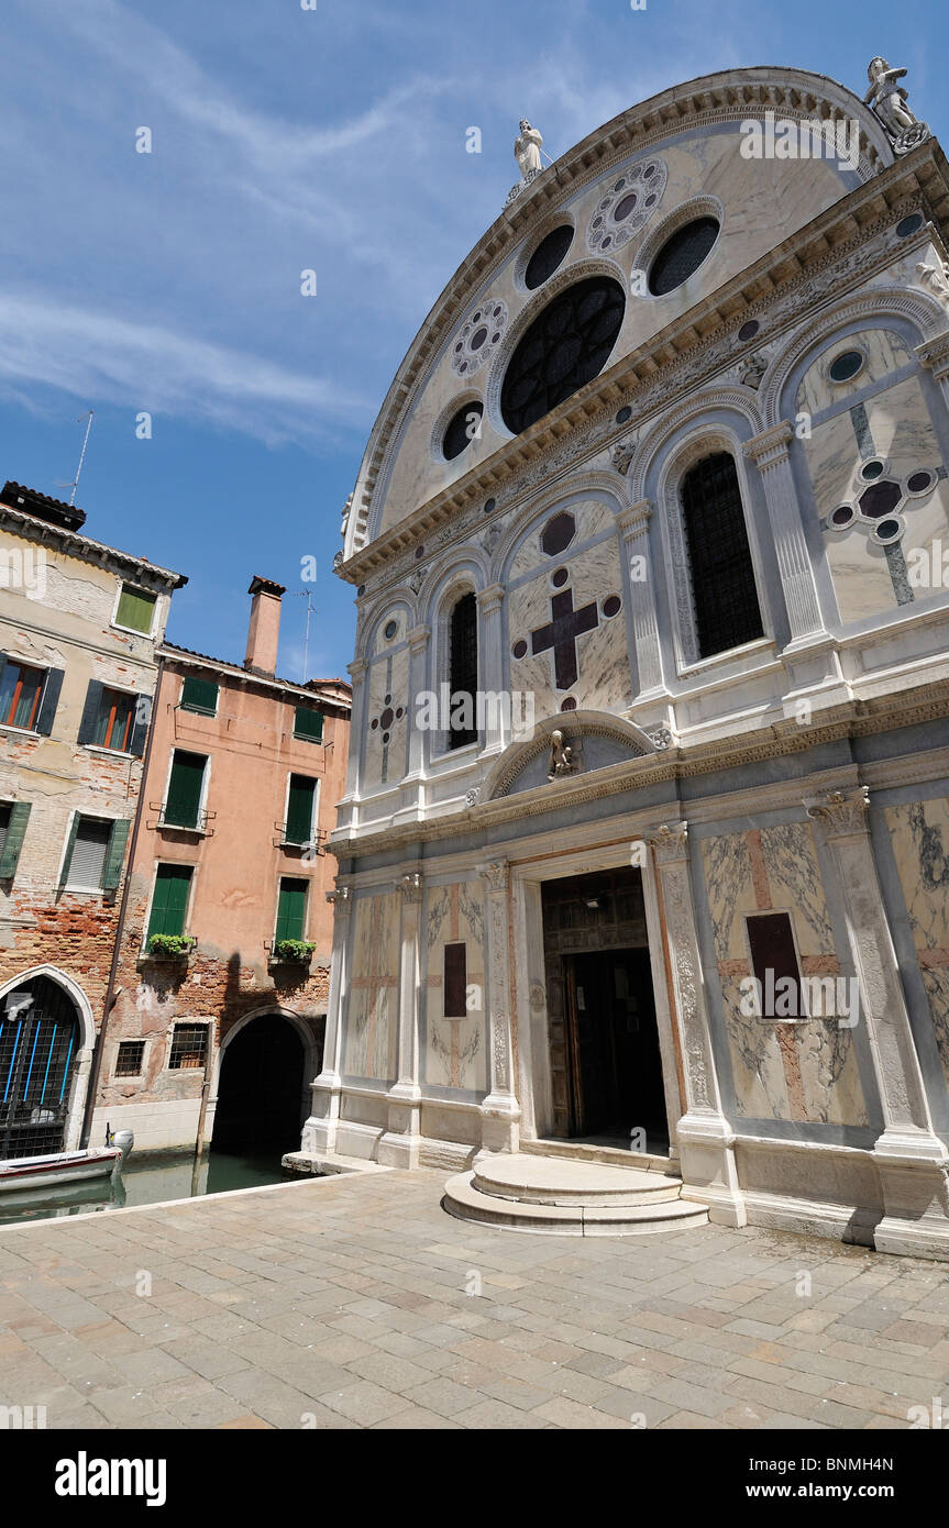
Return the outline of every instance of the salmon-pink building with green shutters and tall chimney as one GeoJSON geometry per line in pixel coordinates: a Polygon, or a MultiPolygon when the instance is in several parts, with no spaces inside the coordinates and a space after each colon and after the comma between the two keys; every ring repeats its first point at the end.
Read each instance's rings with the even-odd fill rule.
{"type": "Polygon", "coordinates": [[[322,1059],[351,689],[277,678],[284,590],[249,593],[243,666],[160,654],[93,1125],[138,1151],[286,1151],[322,1059]]]}

